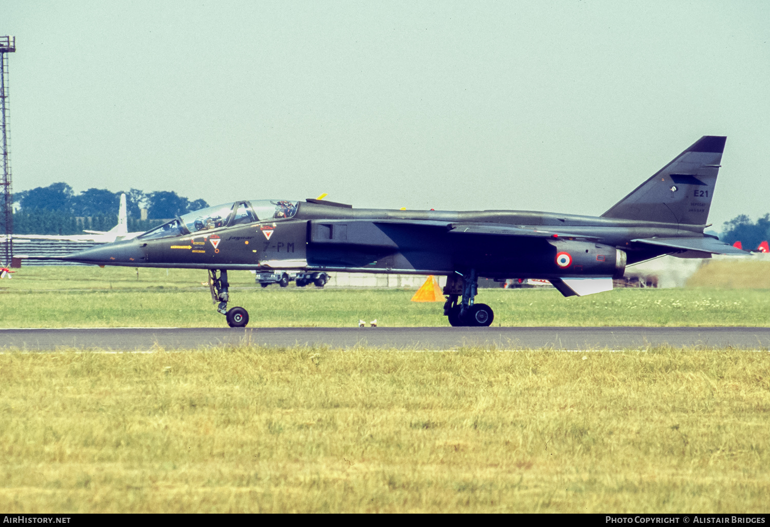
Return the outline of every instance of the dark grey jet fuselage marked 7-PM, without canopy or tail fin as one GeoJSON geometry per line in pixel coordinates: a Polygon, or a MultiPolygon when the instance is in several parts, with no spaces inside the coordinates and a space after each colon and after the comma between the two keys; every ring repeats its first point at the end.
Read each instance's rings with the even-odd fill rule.
{"type": "Polygon", "coordinates": [[[622,274],[626,263],[671,252],[640,247],[631,240],[693,236],[703,236],[698,226],[527,211],[350,209],[303,202],[292,218],[176,237],[140,237],[77,256],[83,263],[129,267],[400,274],[452,274],[473,267],[480,277],[547,279],[622,274]],[[450,230],[464,223],[545,233],[566,230],[577,237],[507,237],[450,230]],[[558,253],[569,255],[568,265],[557,262],[558,253]]]}

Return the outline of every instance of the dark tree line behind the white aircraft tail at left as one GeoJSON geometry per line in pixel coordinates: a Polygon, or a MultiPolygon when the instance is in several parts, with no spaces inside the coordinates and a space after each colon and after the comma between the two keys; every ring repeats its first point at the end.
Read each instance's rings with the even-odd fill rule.
{"type": "Polygon", "coordinates": [[[53,183],[14,194],[18,210],[13,215],[17,234],[82,234],[88,230],[110,230],[118,224],[120,194],[126,193],[129,232],[149,230],[162,220],[209,206],[204,200],[190,201],[176,192],[142,190],[110,192],[89,189],[75,194],[67,183],[53,183]],[[141,219],[147,210],[147,220],[141,219]]]}

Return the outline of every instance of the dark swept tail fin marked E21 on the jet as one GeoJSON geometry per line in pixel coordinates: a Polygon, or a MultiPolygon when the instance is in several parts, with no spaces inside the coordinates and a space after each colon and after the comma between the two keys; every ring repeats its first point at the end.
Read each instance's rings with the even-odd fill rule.
{"type": "Polygon", "coordinates": [[[601,216],[705,226],[726,139],[701,137],[601,216]]]}

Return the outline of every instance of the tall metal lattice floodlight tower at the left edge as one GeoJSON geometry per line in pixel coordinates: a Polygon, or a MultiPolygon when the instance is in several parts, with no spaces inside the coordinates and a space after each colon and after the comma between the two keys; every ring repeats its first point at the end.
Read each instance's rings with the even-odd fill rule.
{"type": "Polygon", "coordinates": [[[8,53],[16,51],[16,38],[0,36],[0,149],[2,149],[2,184],[0,184],[0,263],[11,265],[13,254],[13,194],[11,163],[8,161],[8,53]]]}

